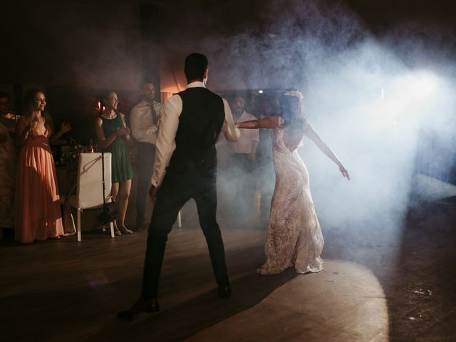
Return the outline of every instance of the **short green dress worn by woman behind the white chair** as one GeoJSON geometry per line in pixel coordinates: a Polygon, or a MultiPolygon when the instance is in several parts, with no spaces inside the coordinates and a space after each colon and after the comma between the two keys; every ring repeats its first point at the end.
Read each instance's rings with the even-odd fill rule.
{"type": "MultiPolygon", "coordinates": [[[[120,118],[120,114],[113,119],[104,118],[103,115],[100,115],[100,118],[103,121],[103,132],[105,133],[106,138],[113,134],[117,128],[123,128],[123,121],[122,118],[120,118]]],[[[128,152],[123,135],[115,137],[108,147],[103,148],[103,152],[111,152],[112,154],[111,177],[113,183],[119,183],[133,178],[130,153],[128,152]]]]}

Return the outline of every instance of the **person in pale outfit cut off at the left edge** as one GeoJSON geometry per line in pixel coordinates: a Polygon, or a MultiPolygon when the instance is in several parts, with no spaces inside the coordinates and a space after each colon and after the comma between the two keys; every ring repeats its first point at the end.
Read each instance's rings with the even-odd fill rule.
{"type": "Polygon", "coordinates": [[[14,182],[16,181],[17,153],[14,130],[19,115],[11,113],[11,98],[0,93],[0,229],[13,228],[14,182]]]}

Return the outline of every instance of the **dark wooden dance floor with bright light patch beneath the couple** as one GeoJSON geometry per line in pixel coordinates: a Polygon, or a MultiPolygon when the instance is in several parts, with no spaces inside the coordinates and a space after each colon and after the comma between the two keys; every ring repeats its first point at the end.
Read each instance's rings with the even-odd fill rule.
{"type": "Polygon", "coordinates": [[[263,226],[221,218],[234,289],[229,300],[217,297],[195,215],[184,217],[167,246],[162,311],[131,323],[115,312],[138,298],[145,231],[115,239],[88,232],[82,243],[6,239],[2,340],[456,341],[455,212],[447,204],[411,211],[395,244],[360,242],[361,228],[327,227],[326,270],[304,276],[292,269],[259,276],[263,226]]]}

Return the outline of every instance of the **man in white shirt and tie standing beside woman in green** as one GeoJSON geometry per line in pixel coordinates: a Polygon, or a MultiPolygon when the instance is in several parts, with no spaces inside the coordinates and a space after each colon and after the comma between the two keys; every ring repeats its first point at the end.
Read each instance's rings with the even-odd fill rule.
{"type": "Polygon", "coordinates": [[[155,101],[155,86],[145,81],[141,86],[142,100],[130,112],[130,126],[136,145],[136,225],[141,230],[144,222],[145,199],[155,159],[155,141],[160,123],[162,104],[155,101]]]}

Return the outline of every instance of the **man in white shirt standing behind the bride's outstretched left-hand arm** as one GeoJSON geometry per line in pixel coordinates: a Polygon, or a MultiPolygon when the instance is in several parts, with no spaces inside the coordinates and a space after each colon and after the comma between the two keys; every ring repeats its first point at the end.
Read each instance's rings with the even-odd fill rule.
{"type": "MultiPolygon", "coordinates": [[[[245,99],[237,95],[232,103],[234,122],[242,123],[257,120],[254,115],[247,113],[245,99]]],[[[237,142],[230,142],[231,151],[228,155],[228,179],[231,186],[231,207],[241,220],[250,219],[254,214],[254,195],[256,177],[256,153],[259,144],[259,130],[243,130],[237,142]]]]}

